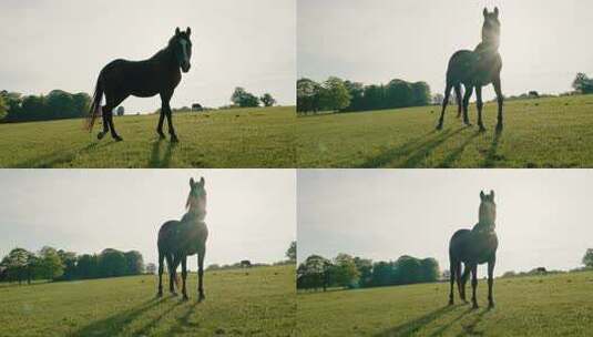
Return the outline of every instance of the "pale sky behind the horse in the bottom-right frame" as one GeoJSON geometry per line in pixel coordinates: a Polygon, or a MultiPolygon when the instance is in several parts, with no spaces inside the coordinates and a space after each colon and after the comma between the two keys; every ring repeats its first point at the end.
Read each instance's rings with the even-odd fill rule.
{"type": "MultiPolygon", "coordinates": [[[[494,191],[494,274],[581,267],[593,248],[592,170],[300,170],[298,262],[338,253],[395,261],[434,257],[478,222],[480,191],[494,191]]],[[[485,265],[480,275],[485,275],[485,265]]]]}

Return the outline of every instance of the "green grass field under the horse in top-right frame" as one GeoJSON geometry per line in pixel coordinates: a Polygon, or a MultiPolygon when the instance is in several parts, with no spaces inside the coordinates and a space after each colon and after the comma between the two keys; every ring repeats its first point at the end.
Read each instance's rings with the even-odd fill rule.
{"type": "MultiPolygon", "coordinates": [[[[299,167],[593,167],[593,95],[484,108],[485,133],[463,127],[457,106],[436,132],[439,106],[299,118],[299,167]]],[[[476,124],[476,106],[470,106],[476,124]]]]}

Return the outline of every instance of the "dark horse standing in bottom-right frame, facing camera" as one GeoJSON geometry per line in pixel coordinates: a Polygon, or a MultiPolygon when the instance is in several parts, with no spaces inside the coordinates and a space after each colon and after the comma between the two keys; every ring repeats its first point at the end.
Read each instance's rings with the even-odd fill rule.
{"type": "Polygon", "coordinates": [[[453,287],[457,280],[459,296],[466,300],[466,283],[471,272],[472,307],[478,308],[476,300],[476,288],[478,287],[478,265],[488,263],[488,303],[489,308],[494,307],[492,297],[494,264],[497,263],[497,248],[499,241],[495,229],[497,204],[494,203],[494,191],[490,194],[480,192],[480,208],[478,224],[470,229],[457,231],[449,242],[450,283],[449,305],[453,305],[453,287]],[[463,263],[463,275],[461,276],[461,263],[463,263]]]}

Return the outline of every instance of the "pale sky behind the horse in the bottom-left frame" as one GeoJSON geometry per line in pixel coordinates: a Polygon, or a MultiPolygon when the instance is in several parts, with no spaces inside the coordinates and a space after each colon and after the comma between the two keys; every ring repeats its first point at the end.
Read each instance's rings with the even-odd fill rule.
{"type": "Polygon", "coordinates": [[[192,176],[206,181],[206,265],[285,259],[296,239],[293,170],[0,170],[0,256],[50,245],[135,249],[156,263],[159,228],[185,213],[192,176]]]}

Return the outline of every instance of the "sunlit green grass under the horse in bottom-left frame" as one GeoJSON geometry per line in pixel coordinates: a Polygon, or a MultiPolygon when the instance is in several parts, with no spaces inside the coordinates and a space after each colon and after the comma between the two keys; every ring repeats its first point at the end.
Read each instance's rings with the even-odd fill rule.
{"type": "Polygon", "coordinates": [[[156,276],[0,287],[0,336],[294,336],[294,266],[206,272],[206,300],[156,299],[156,276]]]}

